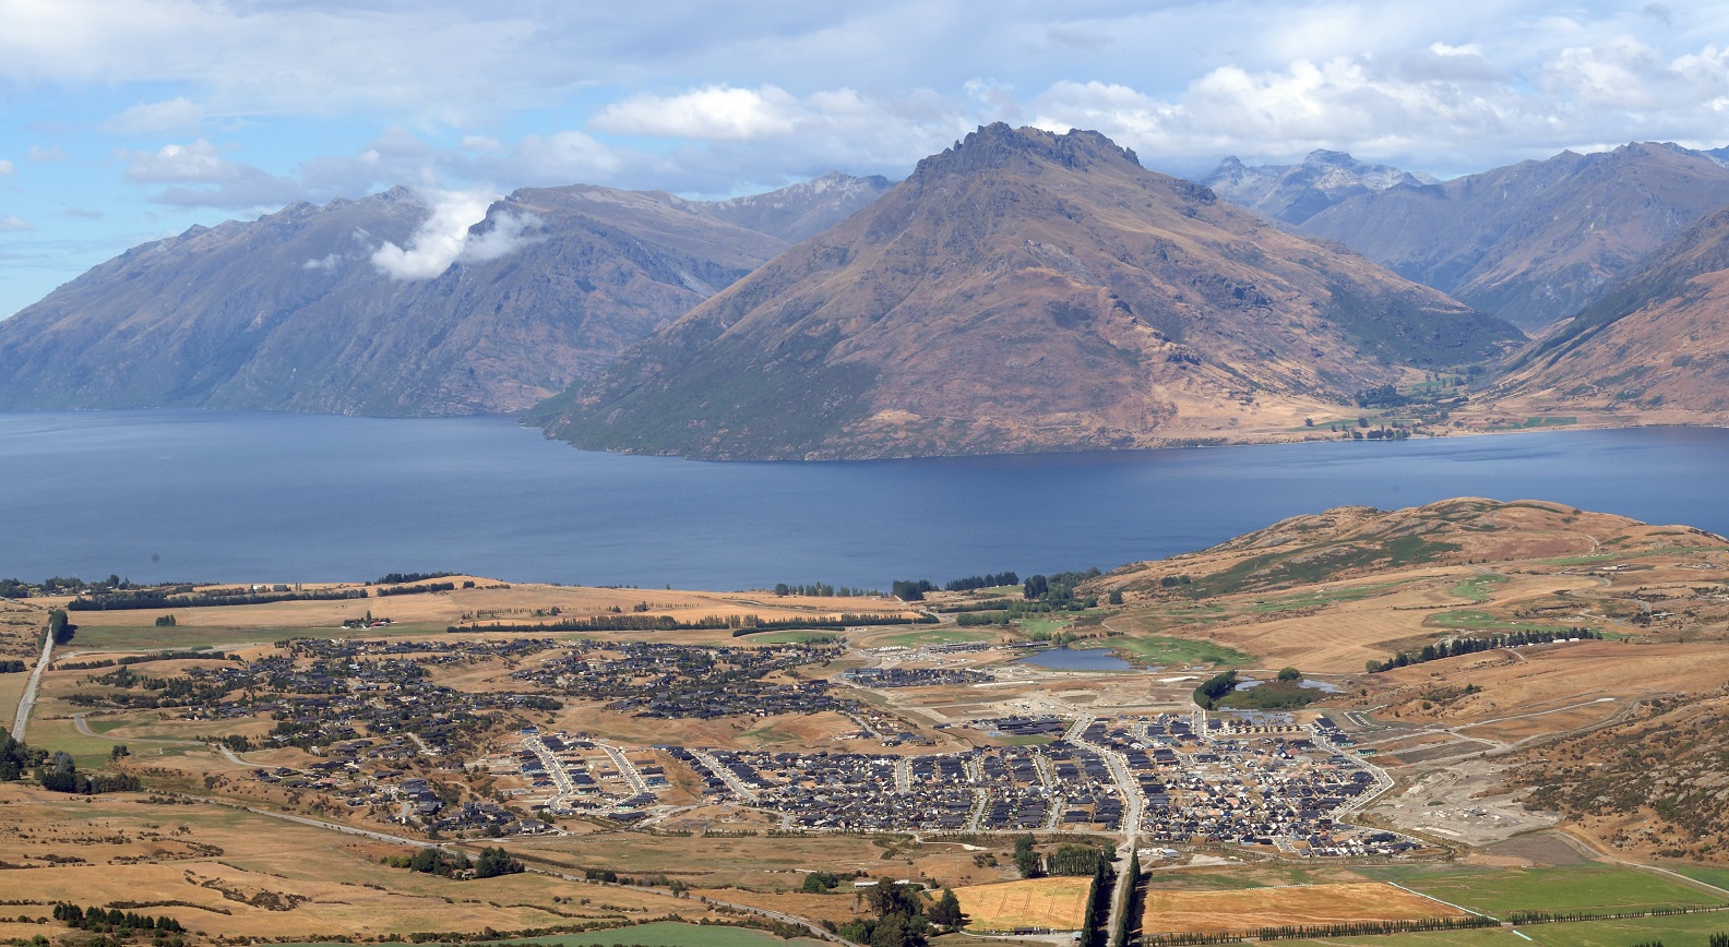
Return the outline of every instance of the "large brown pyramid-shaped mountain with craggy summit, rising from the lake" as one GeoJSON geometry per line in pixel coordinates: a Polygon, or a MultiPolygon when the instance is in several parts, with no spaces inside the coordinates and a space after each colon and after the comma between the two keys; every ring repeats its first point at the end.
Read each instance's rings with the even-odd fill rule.
{"type": "Polygon", "coordinates": [[[998,124],[531,418],[705,458],[1134,448],[1300,429],[1516,337],[1098,133],[998,124]]]}

